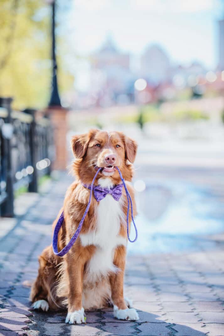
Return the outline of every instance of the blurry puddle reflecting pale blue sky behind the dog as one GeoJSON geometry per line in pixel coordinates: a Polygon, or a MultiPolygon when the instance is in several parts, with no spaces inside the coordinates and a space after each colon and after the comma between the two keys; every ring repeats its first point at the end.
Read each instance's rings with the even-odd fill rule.
{"type": "Polygon", "coordinates": [[[183,181],[146,181],[146,190],[137,193],[137,206],[138,240],[129,243],[129,254],[195,250],[201,235],[224,229],[222,198],[183,181]]]}

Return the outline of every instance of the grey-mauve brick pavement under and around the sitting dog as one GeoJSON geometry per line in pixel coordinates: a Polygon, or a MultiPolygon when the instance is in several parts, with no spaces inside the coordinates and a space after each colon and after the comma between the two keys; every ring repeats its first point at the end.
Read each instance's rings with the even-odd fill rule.
{"type": "Polygon", "coordinates": [[[111,309],[87,312],[85,325],[65,324],[63,311],[31,311],[23,282],[35,279],[69,183],[62,175],[48,193],[24,196],[29,207],[18,204],[16,220],[1,219],[1,227],[9,225],[0,230],[0,335],[224,336],[224,235],[197,237],[193,252],[129,256],[125,295],[134,300],[137,322],[115,320],[111,309]]]}

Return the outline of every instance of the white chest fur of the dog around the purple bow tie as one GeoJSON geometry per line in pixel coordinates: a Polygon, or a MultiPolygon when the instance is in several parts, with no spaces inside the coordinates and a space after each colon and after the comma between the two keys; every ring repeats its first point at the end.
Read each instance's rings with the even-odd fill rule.
{"type": "MultiPolygon", "coordinates": [[[[111,187],[109,178],[99,179],[102,187],[111,187]]],[[[86,281],[97,281],[109,271],[116,271],[113,264],[114,250],[119,245],[126,245],[127,240],[119,236],[121,221],[124,220],[122,197],[119,201],[107,194],[97,207],[96,230],[81,234],[83,246],[95,245],[96,252],[90,259],[86,269],[86,281]]]]}

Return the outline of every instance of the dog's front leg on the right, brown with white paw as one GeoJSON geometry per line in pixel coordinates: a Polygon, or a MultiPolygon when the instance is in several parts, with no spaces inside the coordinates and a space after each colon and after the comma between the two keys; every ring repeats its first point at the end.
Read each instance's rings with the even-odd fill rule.
{"type": "Polygon", "coordinates": [[[124,299],[124,271],[126,247],[119,246],[115,251],[114,264],[118,272],[110,276],[111,298],[114,304],[114,316],[119,320],[139,320],[138,313],[131,308],[131,301],[124,299]],[[129,307],[128,307],[128,306],[129,307]]]}

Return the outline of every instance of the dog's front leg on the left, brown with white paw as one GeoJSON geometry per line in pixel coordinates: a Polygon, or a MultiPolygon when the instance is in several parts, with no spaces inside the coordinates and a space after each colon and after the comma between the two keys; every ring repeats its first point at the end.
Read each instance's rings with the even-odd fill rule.
{"type": "Polygon", "coordinates": [[[68,253],[67,271],[69,276],[68,314],[65,323],[81,324],[85,322],[82,306],[83,272],[85,260],[68,253]],[[76,260],[75,260],[76,259],[76,260]],[[75,267],[74,267],[75,264],[75,267]]]}

